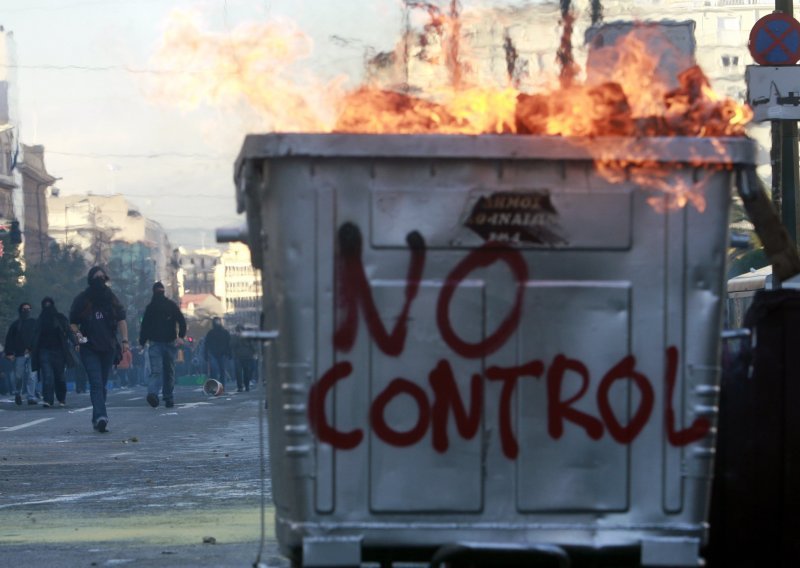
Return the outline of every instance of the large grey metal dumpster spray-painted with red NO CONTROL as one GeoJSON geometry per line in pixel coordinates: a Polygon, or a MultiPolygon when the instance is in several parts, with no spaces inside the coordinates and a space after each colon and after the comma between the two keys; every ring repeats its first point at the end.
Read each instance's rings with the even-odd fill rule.
{"type": "Polygon", "coordinates": [[[606,181],[586,141],[247,137],[238,204],[280,333],[269,444],[296,563],[697,565],[733,168],[754,149],[612,142],[591,144],[659,162],[666,186],[705,180],[706,210],[606,181]]]}

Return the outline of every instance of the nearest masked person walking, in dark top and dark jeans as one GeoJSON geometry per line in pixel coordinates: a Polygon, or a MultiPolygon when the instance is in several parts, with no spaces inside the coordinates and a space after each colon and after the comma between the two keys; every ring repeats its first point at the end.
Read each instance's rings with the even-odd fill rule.
{"type": "Polygon", "coordinates": [[[110,278],[99,266],[89,270],[88,287],[72,301],[69,321],[80,343],[80,355],[89,379],[92,426],[108,431],[106,395],[111,366],[117,363],[117,333],[121,336],[119,357],[128,347],[125,308],[108,287],[110,278]]]}

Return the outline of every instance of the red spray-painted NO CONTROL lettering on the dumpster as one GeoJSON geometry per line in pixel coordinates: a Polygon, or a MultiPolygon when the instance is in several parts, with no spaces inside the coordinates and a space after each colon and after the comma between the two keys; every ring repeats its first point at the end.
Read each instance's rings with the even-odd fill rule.
{"type": "MultiPolygon", "coordinates": [[[[425,267],[425,242],[413,232],[407,237],[411,252],[405,285],[405,302],[395,320],[394,328],[388,331],[380,319],[369,287],[361,257],[362,239],[358,227],[346,223],[339,230],[339,253],[337,258],[337,298],[340,322],[333,337],[335,349],[349,352],[358,332],[361,313],[371,340],[385,354],[397,357],[403,353],[408,334],[408,316],[419,291],[425,267]]],[[[525,283],[528,269],[522,254],[510,246],[489,242],[469,252],[444,281],[436,308],[436,324],[444,343],[456,354],[467,359],[481,359],[500,349],[514,334],[523,313],[525,283]],[[470,343],[462,339],[450,321],[450,303],[459,286],[476,269],[495,263],[507,266],[517,284],[514,305],[505,320],[485,339],[470,343]]],[[[705,418],[697,418],[691,426],[676,429],[673,409],[673,391],[678,374],[678,350],[666,350],[664,369],[664,416],[668,442],[673,446],[685,446],[704,436],[711,424],[705,418]]],[[[353,373],[349,361],[336,363],[314,384],[309,393],[308,416],[311,427],[321,442],[337,449],[357,447],[364,439],[360,428],[351,431],[336,429],[325,414],[325,401],[330,390],[340,380],[353,373]]],[[[418,444],[431,431],[431,440],[437,452],[447,451],[448,421],[452,415],[459,436],[473,438],[479,429],[484,408],[484,381],[501,383],[498,404],[498,430],[503,453],[515,459],[519,452],[512,425],[511,401],[520,379],[544,379],[547,392],[547,430],[553,439],[564,432],[564,423],[572,422],[582,428],[593,440],[601,439],[606,432],[620,444],[630,444],[642,432],[653,413],[656,393],[652,381],[636,368],[633,355],[623,357],[600,379],[596,391],[598,415],[575,408],[589,390],[591,377],[586,365],[579,359],[559,354],[552,361],[531,360],[515,367],[493,366],[485,374],[475,373],[470,379],[469,402],[459,392],[452,367],[447,359],[441,359],[428,375],[428,384],[433,392],[432,400],[426,391],[413,381],[397,377],[381,391],[369,409],[369,426],[382,441],[392,446],[406,447],[418,444]],[[581,388],[569,398],[562,397],[562,383],[567,374],[580,378],[581,388]],[[621,423],[611,407],[611,387],[622,380],[629,380],[639,391],[638,408],[627,424],[621,423]],[[385,419],[386,407],[398,396],[406,395],[414,400],[418,414],[416,424],[409,430],[398,431],[385,419]]]]}

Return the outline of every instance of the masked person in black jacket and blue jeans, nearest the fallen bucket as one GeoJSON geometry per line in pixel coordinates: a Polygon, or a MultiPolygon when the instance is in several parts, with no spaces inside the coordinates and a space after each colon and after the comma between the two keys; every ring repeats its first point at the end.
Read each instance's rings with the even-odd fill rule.
{"type": "Polygon", "coordinates": [[[147,304],[139,331],[139,345],[150,342],[150,381],[147,385],[147,402],[158,406],[158,389],[164,406],[175,406],[175,353],[186,337],[186,319],[177,304],[165,296],[161,282],[153,284],[153,299],[147,304]],[[177,327],[177,330],[176,330],[177,327]]]}

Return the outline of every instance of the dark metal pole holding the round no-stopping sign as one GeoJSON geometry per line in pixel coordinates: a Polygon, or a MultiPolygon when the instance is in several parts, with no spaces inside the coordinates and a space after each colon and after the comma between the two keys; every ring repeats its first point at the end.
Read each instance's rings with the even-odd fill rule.
{"type": "MultiPolygon", "coordinates": [[[[792,0],[775,0],[775,9],[787,16],[792,16],[792,0]]],[[[775,126],[773,126],[774,128],[775,126]]],[[[797,237],[800,235],[800,230],[798,229],[798,219],[800,219],[798,204],[800,204],[800,200],[797,197],[799,161],[797,122],[794,120],[780,121],[778,129],[780,131],[780,158],[778,168],[773,164],[773,175],[780,172],[780,194],[777,196],[780,204],[779,211],[789,237],[792,242],[797,243],[797,237]]],[[[774,143],[775,137],[773,137],[774,143]]]]}

